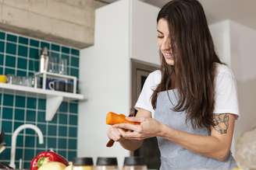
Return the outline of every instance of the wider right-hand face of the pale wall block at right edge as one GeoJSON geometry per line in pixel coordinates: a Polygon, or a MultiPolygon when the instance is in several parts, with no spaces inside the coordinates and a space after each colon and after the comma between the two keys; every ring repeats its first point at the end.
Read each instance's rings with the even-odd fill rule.
{"type": "MultiPolygon", "coordinates": [[[[256,30],[230,22],[231,65],[237,79],[240,120],[236,136],[256,126],[256,30]]],[[[255,139],[256,140],[256,139],[255,139]]]]}

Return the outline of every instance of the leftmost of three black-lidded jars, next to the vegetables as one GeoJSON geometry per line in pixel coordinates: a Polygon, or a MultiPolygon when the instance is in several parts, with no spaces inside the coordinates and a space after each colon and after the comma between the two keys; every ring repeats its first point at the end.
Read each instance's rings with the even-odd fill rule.
{"type": "Polygon", "coordinates": [[[73,170],[93,170],[94,161],[92,158],[74,158],[73,170]]]}

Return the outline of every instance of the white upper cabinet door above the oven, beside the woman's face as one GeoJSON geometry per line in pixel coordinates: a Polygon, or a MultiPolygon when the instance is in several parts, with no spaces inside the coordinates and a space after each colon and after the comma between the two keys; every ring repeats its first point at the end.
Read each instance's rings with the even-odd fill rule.
{"type": "Polygon", "coordinates": [[[131,57],[152,64],[160,64],[157,46],[159,8],[140,1],[132,1],[131,57]]]}

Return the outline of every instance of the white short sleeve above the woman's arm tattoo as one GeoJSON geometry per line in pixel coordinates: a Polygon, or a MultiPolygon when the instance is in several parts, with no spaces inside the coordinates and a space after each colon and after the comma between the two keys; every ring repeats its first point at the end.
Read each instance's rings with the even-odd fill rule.
{"type": "Polygon", "coordinates": [[[215,109],[213,113],[232,113],[240,116],[236,78],[233,72],[225,67],[220,71],[215,80],[215,109]]]}

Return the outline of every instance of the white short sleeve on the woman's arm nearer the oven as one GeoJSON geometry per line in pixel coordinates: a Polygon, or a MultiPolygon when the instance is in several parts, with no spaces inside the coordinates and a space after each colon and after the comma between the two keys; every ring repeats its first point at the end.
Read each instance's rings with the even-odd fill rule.
{"type": "Polygon", "coordinates": [[[135,109],[146,109],[150,111],[151,114],[155,112],[151,104],[151,95],[153,94],[155,88],[157,87],[160,79],[161,79],[160,71],[154,71],[150,75],[148,75],[148,78],[144,82],[144,86],[140,92],[140,96],[137,99],[137,102],[134,106],[135,109]]]}

